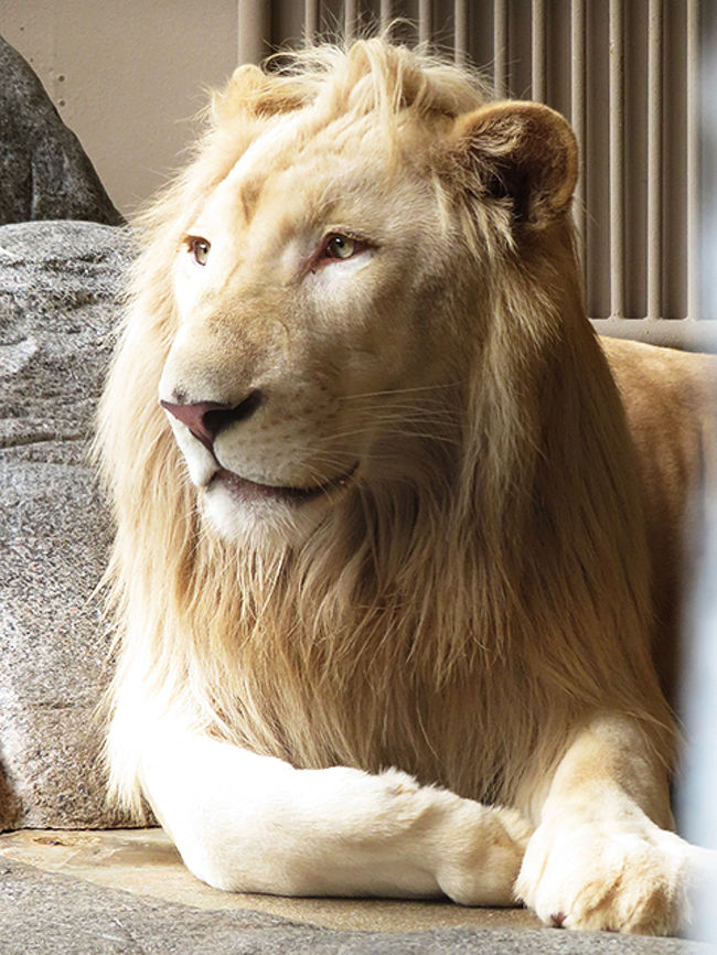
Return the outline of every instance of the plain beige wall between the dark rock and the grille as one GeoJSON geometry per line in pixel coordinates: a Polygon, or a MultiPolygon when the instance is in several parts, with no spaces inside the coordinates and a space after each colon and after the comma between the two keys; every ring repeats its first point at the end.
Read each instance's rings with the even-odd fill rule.
{"type": "Polygon", "coordinates": [[[0,0],[0,34],[128,215],[181,162],[204,90],[236,65],[237,0],[0,0]]]}

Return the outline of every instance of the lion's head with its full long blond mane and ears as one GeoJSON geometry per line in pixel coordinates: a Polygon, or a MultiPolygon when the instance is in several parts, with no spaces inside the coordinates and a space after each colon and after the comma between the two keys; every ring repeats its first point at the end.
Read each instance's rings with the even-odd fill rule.
{"type": "Polygon", "coordinates": [[[546,700],[639,706],[646,558],[576,174],[558,114],[381,40],[235,73],[145,219],[101,405],[116,726],[133,680],[296,764],[484,795],[546,700]]]}

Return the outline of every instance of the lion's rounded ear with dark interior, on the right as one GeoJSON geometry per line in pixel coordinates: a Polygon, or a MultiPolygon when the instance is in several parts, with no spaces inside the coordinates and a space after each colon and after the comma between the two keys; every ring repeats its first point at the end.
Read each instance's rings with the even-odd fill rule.
{"type": "Polygon", "coordinates": [[[547,106],[505,100],[460,116],[450,152],[469,189],[511,200],[518,222],[543,226],[569,207],[578,147],[565,117],[547,106]]]}

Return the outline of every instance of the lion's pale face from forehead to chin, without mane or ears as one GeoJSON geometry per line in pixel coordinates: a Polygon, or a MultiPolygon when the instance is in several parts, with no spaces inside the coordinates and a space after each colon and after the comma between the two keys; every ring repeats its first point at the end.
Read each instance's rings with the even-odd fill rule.
{"type": "Polygon", "coordinates": [[[368,125],[302,138],[297,119],[269,124],[174,265],[160,399],[229,537],[300,538],[357,485],[410,472],[460,377],[441,314],[451,249],[419,171],[368,125]]]}

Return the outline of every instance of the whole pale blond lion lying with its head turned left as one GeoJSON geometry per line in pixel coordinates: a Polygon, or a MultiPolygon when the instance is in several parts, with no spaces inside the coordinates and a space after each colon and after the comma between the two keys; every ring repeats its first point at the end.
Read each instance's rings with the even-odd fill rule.
{"type": "Polygon", "coordinates": [[[107,759],[211,886],[688,920],[665,690],[715,361],[600,345],[577,168],[559,114],[370,39],[239,67],[145,216],[107,759]]]}

